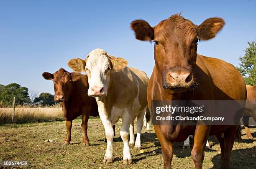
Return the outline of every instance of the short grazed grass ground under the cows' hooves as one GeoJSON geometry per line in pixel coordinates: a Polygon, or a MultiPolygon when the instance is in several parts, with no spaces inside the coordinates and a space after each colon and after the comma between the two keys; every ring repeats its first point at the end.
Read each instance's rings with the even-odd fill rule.
{"type": "MultiPolygon", "coordinates": [[[[90,147],[82,147],[81,119],[73,121],[72,144],[61,147],[66,134],[64,121],[2,124],[0,125],[0,160],[29,160],[33,168],[88,168],[88,169],[151,169],[163,168],[161,147],[153,127],[146,133],[143,128],[142,151],[131,148],[133,164],[123,165],[123,142],[120,138],[120,122],[114,138],[115,160],[113,164],[102,164],[106,143],[105,132],[99,118],[89,119],[88,137],[90,147]],[[46,139],[56,142],[45,142],[46,139]]],[[[135,127],[136,129],[136,127],[135,127]]],[[[247,140],[242,130],[243,142],[234,144],[231,168],[252,169],[256,167],[256,142],[247,140]]],[[[251,128],[256,137],[256,128],[251,128]]],[[[215,137],[209,138],[212,149],[205,152],[203,168],[216,169],[220,165],[220,147],[215,137]]],[[[190,150],[183,150],[182,143],[174,144],[173,169],[191,169],[194,163],[190,150]]]]}

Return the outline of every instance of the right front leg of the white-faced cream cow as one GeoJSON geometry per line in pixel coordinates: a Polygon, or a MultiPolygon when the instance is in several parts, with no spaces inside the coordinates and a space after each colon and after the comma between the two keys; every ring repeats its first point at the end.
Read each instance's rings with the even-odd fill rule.
{"type": "Polygon", "coordinates": [[[109,122],[103,122],[105,128],[105,134],[107,139],[107,150],[105,153],[105,157],[103,159],[103,163],[112,163],[114,160],[114,151],[113,151],[113,138],[114,138],[114,130],[109,122]]]}

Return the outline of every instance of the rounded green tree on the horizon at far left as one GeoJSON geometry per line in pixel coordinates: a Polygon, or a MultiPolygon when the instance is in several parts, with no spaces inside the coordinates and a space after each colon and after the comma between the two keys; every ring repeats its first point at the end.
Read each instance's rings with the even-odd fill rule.
{"type": "Polygon", "coordinates": [[[6,86],[0,85],[0,102],[2,104],[13,104],[13,97],[15,97],[15,104],[25,104],[30,102],[27,87],[21,87],[17,83],[10,83],[6,86]]]}

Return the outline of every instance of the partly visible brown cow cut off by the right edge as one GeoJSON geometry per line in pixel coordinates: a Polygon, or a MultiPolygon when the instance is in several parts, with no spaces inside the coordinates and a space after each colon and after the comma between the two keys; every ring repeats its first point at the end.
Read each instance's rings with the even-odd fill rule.
{"type": "MultiPolygon", "coordinates": [[[[247,100],[256,100],[256,86],[246,85],[247,89],[247,100]]],[[[251,132],[249,130],[249,118],[252,117],[253,120],[256,122],[256,105],[255,102],[247,102],[247,111],[243,114],[243,124],[244,128],[246,129],[246,135],[248,139],[253,139],[251,132]]]]}

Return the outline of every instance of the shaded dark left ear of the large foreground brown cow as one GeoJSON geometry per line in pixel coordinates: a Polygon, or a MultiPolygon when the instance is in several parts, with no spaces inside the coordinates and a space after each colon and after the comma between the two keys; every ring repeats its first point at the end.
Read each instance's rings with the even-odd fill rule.
{"type": "Polygon", "coordinates": [[[137,40],[154,40],[154,29],[145,20],[134,20],[131,22],[131,29],[137,40]]]}

